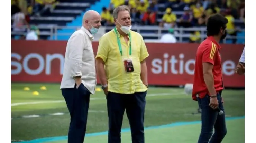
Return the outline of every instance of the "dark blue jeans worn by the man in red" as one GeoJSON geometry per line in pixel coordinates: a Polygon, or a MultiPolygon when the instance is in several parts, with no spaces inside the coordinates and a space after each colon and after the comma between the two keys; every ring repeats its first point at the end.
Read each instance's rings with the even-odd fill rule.
{"type": "Polygon", "coordinates": [[[219,101],[220,110],[224,112],[222,115],[219,115],[217,111],[214,111],[209,106],[209,95],[206,95],[202,99],[198,98],[199,107],[202,109],[202,127],[198,143],[220,143],[227,134],[225,111],[223,104],[221,103],[221,91],[217,94],[217,99],[219,101]]]}

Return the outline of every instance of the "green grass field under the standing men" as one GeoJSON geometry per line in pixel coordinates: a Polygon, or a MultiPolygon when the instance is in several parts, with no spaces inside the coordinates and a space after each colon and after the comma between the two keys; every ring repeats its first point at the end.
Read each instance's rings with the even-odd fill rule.
{"type": "MultiPolygon", "coordinates": [[[[44,141],[47,143],[67,142],[70,116],[59,87],[59,84],[12,83],[11,139],[13,141],[33,140],[30,143],[38,143],[43,140],[34,139],[58,137],[44,141]],[[40,90],[41,86],[45,86],[47,90],[40,90]],[[24,91],[24,87],[29,87],[30,91],[24,91]],[[33,91],[38,91],[39,95],[33,95],[33,91]],[[34,117],[24,117],[29,115],[34,115],[34,117]]],[[[224,90],[222,95],[225,100],[228,128],[223,142],[242,143],[244,142],[244,90],[224,90]],[[236,119],[236,117],[241,118],[236,119]]],[[[145,128],[147,143],[171,141],[194,143],[197,141],[201,128],[200,114],[193,115],[192,113],[196,112],[198,104],[192,101],[191,96],[184,94],[183,88],[150,87],[146,102],[145,127],[149,127],[145,128]]],[[[126,114],[122,128],[129,128],[126,114]]],[[[103,91],[97,91],[95,95],[91,95],[90,99],[86,130],[88,135],[85,141],[107,142],[107,130],[106,98],[103,91]]],[[[131,142],[128,129],[122,132],[122,142],[131,142]]]]}

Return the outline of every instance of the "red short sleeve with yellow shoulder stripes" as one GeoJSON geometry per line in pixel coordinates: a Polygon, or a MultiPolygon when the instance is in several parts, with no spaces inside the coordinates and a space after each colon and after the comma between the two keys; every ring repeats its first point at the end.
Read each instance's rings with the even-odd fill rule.
{"type": "Polygon", "coordinates": [[[211,42],[211,44],[206,44],[203,50],[203,62],[208,62],[214,65],[215,55],[217,51],[217,46],[211,42]]]}

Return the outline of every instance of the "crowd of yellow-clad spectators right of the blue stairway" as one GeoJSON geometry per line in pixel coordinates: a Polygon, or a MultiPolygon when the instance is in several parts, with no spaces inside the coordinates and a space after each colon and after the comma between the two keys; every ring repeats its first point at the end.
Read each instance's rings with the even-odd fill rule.
{"type": "MultiPolygon", "coordinates": [[[[206,26],[210,15],[219,13],[228,19],[227,32],[231,36],[237,35],[235,19],[244,21],[244,0],[111,0],[109,8],[104,7],[101,13],[102,25],[113,26],[113,9],[119,5],[127,5],[131,10],[131,18],[135,25],[159,25],[160,27],[200,27],[206,26]],[[165,2],[165,12],[159,17],[157,4],[165,2]],[[177,17],[173,11],[183,11],[177,17]],[[158,21],[158,19],[161,19],[158,21]]],[[[168,34],[173,34],[171,32],[168,34]]],[[[175,40],[174,40],[175,41],[175,40]]],[[[200,32],[192,31],[190,42],[200,41],[200,32]]],[[[232,39],[236,43],[236,39],[232,39]]]]}

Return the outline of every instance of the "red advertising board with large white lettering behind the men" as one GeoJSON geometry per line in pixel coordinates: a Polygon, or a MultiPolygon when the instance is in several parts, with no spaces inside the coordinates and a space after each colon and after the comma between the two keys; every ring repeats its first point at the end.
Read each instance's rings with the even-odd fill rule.
{"type": "MultiPolygon", "coordinates": [[[[11,81],[60,83],[67,41],[11,41],[11,81]]],[[[97,53],[98,42],[93,42],[97,53]]],[[[149,85],[184,85],[193,82],[199,44],[146,43],[149,85]]],[[[244,87],[244,75],[235,73],[244,45],[222,44],[223,80],[226,87],[244,87]]],[[[99,83],[99,80],[98,80],[99,83]]]]}

